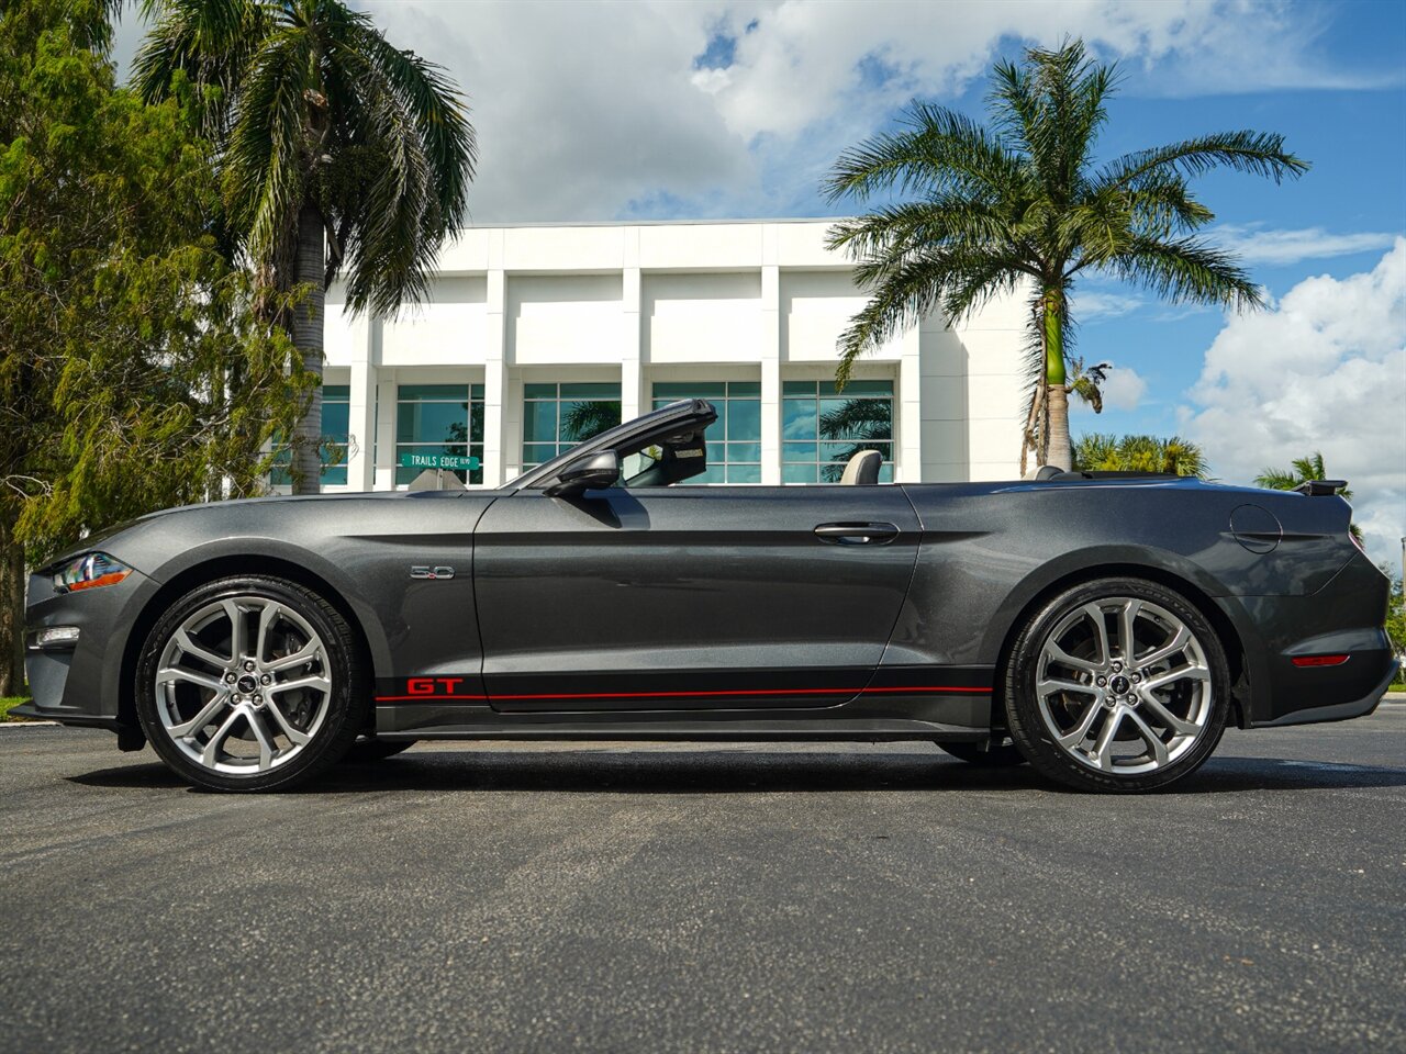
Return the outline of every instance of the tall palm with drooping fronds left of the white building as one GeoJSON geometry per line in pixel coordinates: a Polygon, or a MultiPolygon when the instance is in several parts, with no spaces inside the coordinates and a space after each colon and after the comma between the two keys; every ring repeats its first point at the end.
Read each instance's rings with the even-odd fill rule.
{"type": "MultiPolygon", "coordinates": [[[[420,299],[465,215],[477,148],[441,69],[394,48],[340,0],[142,0],[156,24],[136,56],[148,100],[197,87],[215,143],[232,256],[302,367],[322,375],[328,284],[347,308],[420,299]]],[[[316,492],[322,396],[292,440],[294,489],[316,492]]]]}

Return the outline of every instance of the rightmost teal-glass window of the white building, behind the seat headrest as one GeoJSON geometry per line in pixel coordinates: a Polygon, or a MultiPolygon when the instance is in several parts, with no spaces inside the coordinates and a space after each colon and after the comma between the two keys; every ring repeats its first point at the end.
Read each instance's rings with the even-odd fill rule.
{"type": "Polygon", "coordinates": [[[893,381],[782,384],[782,482],[838,483],[860,450],[883,454],[879,479],[893,482],[893,381]]]}

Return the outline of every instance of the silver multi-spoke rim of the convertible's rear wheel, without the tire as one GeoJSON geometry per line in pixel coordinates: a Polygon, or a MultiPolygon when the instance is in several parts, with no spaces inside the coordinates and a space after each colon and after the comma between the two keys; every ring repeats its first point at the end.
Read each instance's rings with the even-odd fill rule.
{"type": "Polygon", "coordinates": [[[1035,691],[1070,757],[1105,773],[1180,759],[1211,715],[1206,653],[1167,609],[1137,597],[1092,600],[1045,638],[1035,691]]]}

